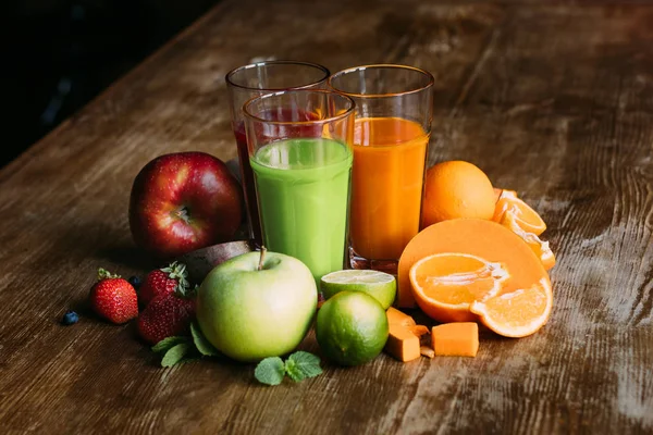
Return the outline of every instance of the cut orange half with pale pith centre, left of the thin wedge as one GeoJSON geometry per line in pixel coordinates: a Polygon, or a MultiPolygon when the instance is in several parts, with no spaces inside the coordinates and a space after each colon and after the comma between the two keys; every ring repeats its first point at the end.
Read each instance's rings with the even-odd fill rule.
{"type": "Polygon", "coordinates": [[[440,322],[466,322],[477,320],[470,304],[498,294],[510,275],[501,263],[442,252],[417,261],[409,277],[412,296],[427,315],[440,322]]]}

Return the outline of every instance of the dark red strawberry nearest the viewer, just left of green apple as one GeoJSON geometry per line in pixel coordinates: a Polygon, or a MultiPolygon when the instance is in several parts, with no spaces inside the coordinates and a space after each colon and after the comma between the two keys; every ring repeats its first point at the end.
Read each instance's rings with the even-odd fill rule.
{"type": "Polygon", "coordinates": [[[195,290],[178,286],[174,293],[159,295],[138,316],[138,334],[151,345],[185,333],[195,318],[195,290]]]}

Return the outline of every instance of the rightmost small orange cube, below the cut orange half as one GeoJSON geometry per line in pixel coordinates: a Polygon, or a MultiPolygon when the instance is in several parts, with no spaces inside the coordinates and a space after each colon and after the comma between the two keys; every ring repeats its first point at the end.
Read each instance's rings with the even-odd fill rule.
{"type": "Polygon", "coordinates": [[[436,356],[476,357],[479,350],[479,325],[455,322],[433,326],[433,350],[436,356]]]}

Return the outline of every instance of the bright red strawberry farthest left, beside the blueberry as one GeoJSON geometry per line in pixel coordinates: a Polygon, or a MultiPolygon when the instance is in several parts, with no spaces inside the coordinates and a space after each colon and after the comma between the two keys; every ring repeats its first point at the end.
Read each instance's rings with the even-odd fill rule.
{"type": "Polygon", "coordinates": [[[125,323],[138,316],[138,297],[126,279],[100,268],[90,289],[90,308],[109,322],[125,323]]]}

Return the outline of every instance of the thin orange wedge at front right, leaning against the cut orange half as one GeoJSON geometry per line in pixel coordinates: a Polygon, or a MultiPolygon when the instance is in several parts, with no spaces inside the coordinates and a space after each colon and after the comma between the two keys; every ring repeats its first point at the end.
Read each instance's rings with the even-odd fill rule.
{"type": "Polygon", "coordinates": [[[470,311],[490,330],[504,337],[526,337],[544,326],[553,307],[551,283],[542,279],[531,287],[475,301],[470,311]]]}

